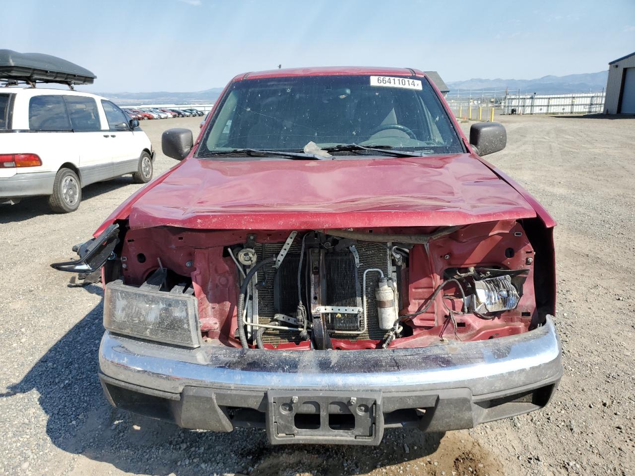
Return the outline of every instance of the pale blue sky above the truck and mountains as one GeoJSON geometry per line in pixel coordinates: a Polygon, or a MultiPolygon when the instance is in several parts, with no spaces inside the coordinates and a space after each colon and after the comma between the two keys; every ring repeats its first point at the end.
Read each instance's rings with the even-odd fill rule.
{"type": "Polygon", "coordinates": [[[605,70],[635,0],[4,1],[0,48],[62,56],[93,91],[197,91],[249,70],[381,65],[446,81],[605,70]]]}

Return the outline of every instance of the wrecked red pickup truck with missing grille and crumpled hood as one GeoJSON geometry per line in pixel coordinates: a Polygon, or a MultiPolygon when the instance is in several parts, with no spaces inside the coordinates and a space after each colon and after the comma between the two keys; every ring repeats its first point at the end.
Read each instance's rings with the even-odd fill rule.
{"type": "Polygon", "coordinates": [[[53,267],[101,269],[114,406],[272,444],[379,444],[545,406],[551,216],[413,69],[234,77],[180,161],[53,267]]]}

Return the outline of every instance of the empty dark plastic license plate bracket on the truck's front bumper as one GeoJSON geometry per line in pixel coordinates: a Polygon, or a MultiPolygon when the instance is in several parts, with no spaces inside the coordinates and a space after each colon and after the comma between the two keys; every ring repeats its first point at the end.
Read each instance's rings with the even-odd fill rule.
{"type": "Polygon", "coordinates": [[[381,392],[267,392],[271,444],[378,445],[384,435],[381,392]]]}

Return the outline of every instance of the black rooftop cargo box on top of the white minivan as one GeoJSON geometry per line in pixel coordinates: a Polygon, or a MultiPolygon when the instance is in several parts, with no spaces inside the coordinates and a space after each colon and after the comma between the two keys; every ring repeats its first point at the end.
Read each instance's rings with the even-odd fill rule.
{"type": "Polygon", "coordinates": [[[0,80],[7,83],[24,81],[32,85],[62,83],[72,86],[93,84],[96,77],[91,71],[57,56],[0,50],[0,80]]]}

